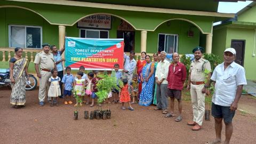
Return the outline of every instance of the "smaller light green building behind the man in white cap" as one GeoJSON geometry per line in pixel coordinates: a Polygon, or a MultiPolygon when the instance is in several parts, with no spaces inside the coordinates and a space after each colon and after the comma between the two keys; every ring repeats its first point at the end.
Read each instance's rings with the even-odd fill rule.
{"type": "Polygon", "coordinates": [[[228,47],[236,49],[236,62],[246,71],[246,79],[256,80],[256,2],[236,13],[234,19],[213,27],[212,53],[220,55],[228,47]]]}

